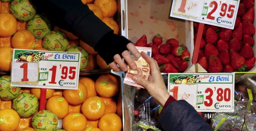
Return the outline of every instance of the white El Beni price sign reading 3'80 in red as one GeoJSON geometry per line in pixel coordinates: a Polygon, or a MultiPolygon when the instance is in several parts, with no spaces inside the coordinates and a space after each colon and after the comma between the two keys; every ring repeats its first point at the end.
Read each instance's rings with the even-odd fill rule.
{"type": "Polygon", "coordinates": [[[199,112],[234,111],[235,73],[169,73],[168,92],[199,112]]]}

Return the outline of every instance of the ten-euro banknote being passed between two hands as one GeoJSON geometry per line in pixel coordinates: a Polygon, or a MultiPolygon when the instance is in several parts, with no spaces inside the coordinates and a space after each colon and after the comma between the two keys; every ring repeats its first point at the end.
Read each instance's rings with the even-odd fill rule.
{"type": "MultiPolygon", "coordinates": [[[[143,51],[151,57],[152,49],[150,47],[136,47],[136,48],[138,49],[139,52],[143,51]]],[[[128,66],[128,71],[126,72],[124,83],[131,86],[144,88],[143,86],[134,82],[132,80],[132,77],[137,75],[147,80],[149,78],[149,73],[150,73],[149,64],[142,57],[138,58],[137,60],[135,59],[135,63],[137,65],[137,69],[135,70],[132,70],[128,66]]]]}

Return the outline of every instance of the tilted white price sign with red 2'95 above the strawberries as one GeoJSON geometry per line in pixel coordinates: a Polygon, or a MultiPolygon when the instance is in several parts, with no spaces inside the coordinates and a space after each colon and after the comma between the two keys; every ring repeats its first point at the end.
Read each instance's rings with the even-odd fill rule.
{"type": "Polygon", "coordinates": [[[240,0],[173,0],[170,17],[234,29],[240,0]]]}

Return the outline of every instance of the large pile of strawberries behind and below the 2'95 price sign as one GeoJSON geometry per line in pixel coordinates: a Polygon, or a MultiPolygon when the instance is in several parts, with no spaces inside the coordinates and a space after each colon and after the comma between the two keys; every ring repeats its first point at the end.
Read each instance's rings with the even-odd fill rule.
{"type": "MultiPolygon", "coordinates": [[[[243,72],[254,67],[254,0],[240,0],[234,30],[205,25],[197,59],[208,72],[243,72]]],[[[194,42],[199,23],[194,22],[194,42]]]]}

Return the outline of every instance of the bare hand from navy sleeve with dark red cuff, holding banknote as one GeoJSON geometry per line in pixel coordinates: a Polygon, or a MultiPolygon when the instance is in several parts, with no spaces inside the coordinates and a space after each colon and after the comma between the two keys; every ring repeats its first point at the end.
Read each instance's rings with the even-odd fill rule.
{"type": "Polygon", "coordinates": [[[150,67],[150,76],[148,81],[140,76],[133,76],[132,80],[143,86],[149,94],[158,101],[161,106],[164,106],[165,102],[169,98],[170,94],[164,84],[163,77],[159,71],[156,60],[151,58],[145,52],[141,52],[141,56],[146,60],[150,67]]]}

